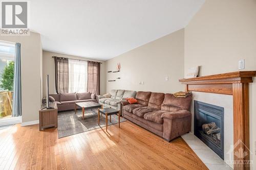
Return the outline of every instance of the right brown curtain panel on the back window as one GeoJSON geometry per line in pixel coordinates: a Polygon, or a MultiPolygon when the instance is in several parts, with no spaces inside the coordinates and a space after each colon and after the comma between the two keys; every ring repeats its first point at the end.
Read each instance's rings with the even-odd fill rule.
{"type": "Polygon", "coordinates": [[[99,91],[100,63],[88,61],[87,91],[100,94],[99,91]]]}

